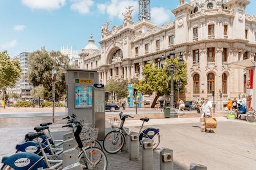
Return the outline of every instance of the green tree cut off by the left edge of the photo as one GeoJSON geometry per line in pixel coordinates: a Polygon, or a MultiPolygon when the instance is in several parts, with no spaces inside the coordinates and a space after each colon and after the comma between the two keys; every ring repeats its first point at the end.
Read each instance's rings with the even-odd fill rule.
{"type": "Polygon", "coordinates": [[[7,51],[0,52],[0,93],[7,87],[13,87],[21,75],[19,61],[13,61],[7,51]]]}

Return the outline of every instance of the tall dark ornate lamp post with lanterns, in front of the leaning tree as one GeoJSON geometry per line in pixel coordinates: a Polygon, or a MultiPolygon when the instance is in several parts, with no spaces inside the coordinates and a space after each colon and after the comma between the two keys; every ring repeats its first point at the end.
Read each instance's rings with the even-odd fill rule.
{"type": "MultiPolygon", "coordinates": [[[[178,117],[178,114],[174,110],[174,72],[178,67],[173,63],[175,58],[174,51],[170,52],[170,61],[171,63],[169,65],[166,65],[166,69],[170,73],[170,117],[178,117]]],[[[183,65],[183,57],[180,53],[179,57],[179,66],[183,65]]]]}

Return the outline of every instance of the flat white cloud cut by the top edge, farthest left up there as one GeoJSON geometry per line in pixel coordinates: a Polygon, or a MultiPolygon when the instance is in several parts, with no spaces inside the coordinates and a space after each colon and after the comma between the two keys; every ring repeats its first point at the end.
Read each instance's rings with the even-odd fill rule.
{"type": "Polygon", "coordinates": [[[66,5],[66,0],[22,0],[22,2],[32,9],[56,10],[66,5]]]}

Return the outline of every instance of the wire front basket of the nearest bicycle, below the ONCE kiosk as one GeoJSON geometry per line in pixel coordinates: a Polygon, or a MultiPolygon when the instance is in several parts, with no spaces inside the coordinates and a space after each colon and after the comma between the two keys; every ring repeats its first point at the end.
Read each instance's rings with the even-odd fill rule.
{"type": "Polygon", "coordinates": [[[83,128],[80,133],[81,141],[91,142],[91,141],[97,140],[98,132],[99,132],[99,128],[92,128],[92,127],[83,128]]]}

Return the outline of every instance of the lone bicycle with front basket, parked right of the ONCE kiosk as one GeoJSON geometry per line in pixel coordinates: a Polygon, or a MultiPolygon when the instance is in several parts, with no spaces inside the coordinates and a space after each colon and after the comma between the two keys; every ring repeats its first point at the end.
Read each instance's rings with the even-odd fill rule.
{"type": "MultiPolygon", "coordinates": [[[[122,115],[123,112],[119,113],[119,117],[121,119],[121,123],[120,126],[116,126],[115,124],[118,124],[117,119],[114,119],[111,122],[111,126],[114,129],[113,131],[109,132],[108,134],[105,135],[104,139],[103,139],[103,148],[106,152],[110,153],[110,154],[115,154],[118,151],[120,151],[124,145],[124,143],[126,142],[125,140],[125,135],[129,136],[129,132],[127,132],[124,128],[123,128],[123,124],[125,122],[125,119],[128,117],[134,118],[130,115],[122,115]]],[[[139,131],[139,141],[141,144],[141,140],[143,137],[146,138],[150,138],[153,139],[153,149],[156,149],[160,143],[160,135],[159,135],[159,129],[155,129],[155,128],[146,128],[142,131],[142,127],[144,125],[145,122],[148,122],[148,120],[150,120],[149,118],[145,117],[145,118],[140,118],[140,120],[143,121],[141,127],[140,127],[140,131],[139,131]]]]}

